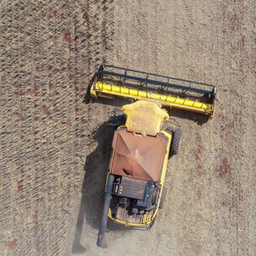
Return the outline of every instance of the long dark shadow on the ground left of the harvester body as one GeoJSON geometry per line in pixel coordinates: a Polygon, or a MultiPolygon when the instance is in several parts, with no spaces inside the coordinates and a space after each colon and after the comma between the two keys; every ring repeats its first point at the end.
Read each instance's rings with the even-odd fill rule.
{"type": "MultiPolygon", "coordinates": [[[[97,148],[85,160],[82,198],[72,245],[72,254],[85,253],[85,247],[80,244],[82,232],[85,232],[85,234],[91,230],[93,232],[96,230],[97,232],[100,227],[113,132],[113,127],[101,124],[88,138],[88,144],[97,144],[97,148]],[[84,220],[86,220],[86,226],[83,228],[84,220]]],[[[116,230],[117,232],[121,230],[123,232],[122,229],[115,227],[109,219],[107,232],[111,230],[116,230]]]]}

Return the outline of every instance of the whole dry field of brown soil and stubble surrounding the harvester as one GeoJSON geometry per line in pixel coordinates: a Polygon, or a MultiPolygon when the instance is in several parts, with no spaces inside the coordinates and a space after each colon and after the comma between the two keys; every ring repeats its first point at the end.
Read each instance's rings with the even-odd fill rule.
{"type": "Polygon", "coordinates": [[[2,1],[0,255],[256,255],[254,1],[2,1]],[[148,232],[107,225],[96,246],[113,130],[90,99],[101,63],[217,85],[213,120],[183,129],[148,232]]]}

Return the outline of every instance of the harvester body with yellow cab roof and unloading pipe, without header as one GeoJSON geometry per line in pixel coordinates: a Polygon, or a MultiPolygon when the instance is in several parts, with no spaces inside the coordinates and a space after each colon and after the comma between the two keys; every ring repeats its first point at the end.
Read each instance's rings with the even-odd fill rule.
{"type": "Polygon", "coordinates": [[[161,129],[169,115],[155,103],[137,101],[123,106],[122,112],[127,119],[113,136],[97,241],[102,248],[107,247],[107,216],[115,225],[150,229],[159,209],[171,146],[172,132],[161,129]]]}

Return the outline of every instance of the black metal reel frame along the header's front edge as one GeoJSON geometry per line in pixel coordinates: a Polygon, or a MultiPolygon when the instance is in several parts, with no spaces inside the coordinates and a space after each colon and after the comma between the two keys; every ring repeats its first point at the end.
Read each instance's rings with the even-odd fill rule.
{"type": "Polygon", "coordinates": [[[156,75],[112,65],[100,65],[96,79],[97,81],[102,81],[110,85],[131,87],[149,92],[154,91],[164,95],[179,96],[181,98],[189,98],[207,103],[213,103],[215,97],[215,85],[156,75]],[[129,72],[135,73],[136,76],[128,75],[129,72]],[[150,76],[165,81],[149,79],[150,76]],[[185,85],[173,84],[170,83],[170,80],[185,85]]]}

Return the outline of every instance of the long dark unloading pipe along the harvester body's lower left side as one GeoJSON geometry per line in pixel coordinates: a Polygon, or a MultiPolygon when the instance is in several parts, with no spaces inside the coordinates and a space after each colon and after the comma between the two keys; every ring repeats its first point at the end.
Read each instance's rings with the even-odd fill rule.
{"type": "Polygon", "coordinates": [[[101,225],[99,230],[99,235],[97,239],[97,246],[105,249],[107,248],[107,238],[106,238],[106,227],[107,227],[107,215],[108,215],[108,209],[110,205],[111,200],[111,193],[112,193],[112,184],[114,182],[115,176],[110,174],[108,175],[108,181],[107,181],[107,189],[105,193],[105,200],[104,200],[104,206],[103,206],[103,212],[101,217],[101,225]]]}

